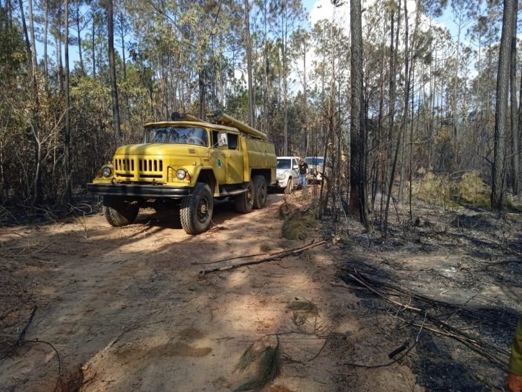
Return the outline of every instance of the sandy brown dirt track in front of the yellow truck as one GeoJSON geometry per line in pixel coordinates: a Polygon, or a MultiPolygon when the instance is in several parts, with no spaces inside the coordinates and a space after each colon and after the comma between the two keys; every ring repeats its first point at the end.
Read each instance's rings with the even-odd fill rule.
{"type": "MultiPolygon", "coordinates": [[[[0,228],[0,351],[10,350],[38,306],[25,343],[2,355],[0,390],[230,391],[255,373],[255,363],[244,373],[236,369],[243,352],[277,340],[283,365],[271,391],[423,390],[429,384],[419,376],[417,347],[391,366],[342,366],[387,363],[404,340],[390,335],[388,315],[368,306],[373,299],[338,276],[359,260],[354,255],[377,256],[361,242],[332,241],[323,228],[306,241],[286,240],[278,219],[283,197],[270,194],[264,210],[246,215],[220,203],[216,226],[197,236],[152,210],[125,228],[112,228],[100,214],[0,228]],[[323,239],[329,242],[299,256],[198,277],[204,268],[262,256],[217,260],[323,239]],[[291,311],[296,301],[315,304],[317,312],[291,311]]],[[[299,195],[289,201],[299,206],[299,195]]],[[[430,257],[450,256],[441,250],[430,257]]],[[[429,264],[416,257],[404,251],[393,262],[429,264]]],[[[519,286],[512,286],[507,291],[516,298],[519,286]]],[[[498,386],[503,374],[492,377],[498,386]]]]}

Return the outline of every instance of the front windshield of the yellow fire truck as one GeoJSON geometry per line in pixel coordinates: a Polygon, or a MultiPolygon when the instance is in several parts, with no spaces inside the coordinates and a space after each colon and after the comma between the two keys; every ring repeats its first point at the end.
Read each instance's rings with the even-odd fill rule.
{"type": "Polygon", "coordinates": [[[208,146],[207,130],[197,127],[145,128],[145,143],[178,143],[208,146]]]}

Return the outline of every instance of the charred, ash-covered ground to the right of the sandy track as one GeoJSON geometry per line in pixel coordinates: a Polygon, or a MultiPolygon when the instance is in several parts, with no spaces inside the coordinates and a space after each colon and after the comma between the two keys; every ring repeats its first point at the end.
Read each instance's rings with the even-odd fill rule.
{"type": "Polygon", "coordinates": [[[372,230],[349,218],[323,227],[325,236],[337,236],[342,244],[340,279],[354,287],[359,305],[375,313],[373,322],[383,330],[375,345],[415,343],[398,363],[413,370],[420,386],[429,391],[505,390],[505,364],[522,312],[522,211],[498,217],[476,208],[416,203],[412,217],[406,205],[395,207],[386,237],[379,219],[372,230]],[[354,274],[386,298],[422,311],[390,304],[354,282],[354,274]],[[424,313],[471,343],[455,339],[446,327],[423,322],[424,313]],[[473,349],[481,346],[484,352],[473,349]]]}

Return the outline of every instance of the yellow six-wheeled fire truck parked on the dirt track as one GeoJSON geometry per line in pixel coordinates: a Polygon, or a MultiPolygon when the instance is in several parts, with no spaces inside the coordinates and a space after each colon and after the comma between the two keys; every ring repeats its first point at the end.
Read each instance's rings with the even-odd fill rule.
{"type": "Polygon", "coordinates": [[[87,185],[103,196],[109,224],[132,224],[139,208],[154,207],[179,214],[182,228],[199,234],[212,222],[214,198],[233,198],[241,214],[264,206],[276,182],[274,144],[221,111],[207,118],[173,113],[145,124],[143,143],[116,150],[87,185]]]}

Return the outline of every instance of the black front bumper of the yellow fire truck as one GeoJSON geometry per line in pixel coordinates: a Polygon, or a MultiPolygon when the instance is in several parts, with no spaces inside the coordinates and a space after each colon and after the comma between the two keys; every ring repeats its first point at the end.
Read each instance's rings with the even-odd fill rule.
{"type": "Polygon", "coordinates": [[[166,187],[165,185],[87,184],[93,194],[129,197],[182,198],[193,193],[193,187],[166,187]]]}

